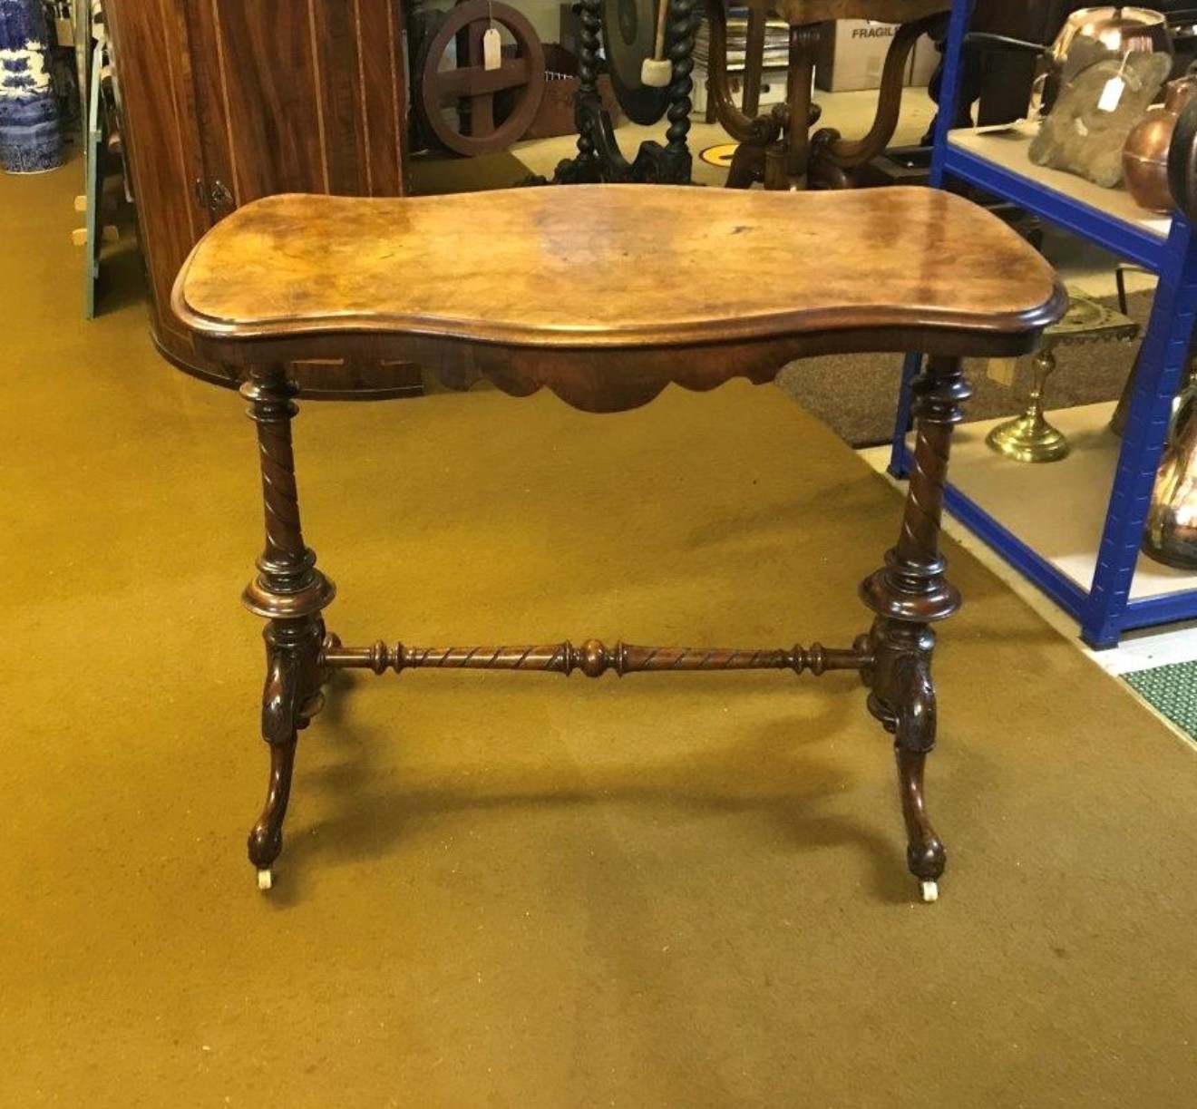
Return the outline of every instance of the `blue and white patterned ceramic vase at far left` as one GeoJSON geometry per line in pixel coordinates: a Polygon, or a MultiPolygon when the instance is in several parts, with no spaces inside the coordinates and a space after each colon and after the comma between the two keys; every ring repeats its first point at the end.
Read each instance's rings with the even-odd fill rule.
{"type": "Polygon", "coordinates": [[[0,169],[10,173],[62,165],[48,55],[42,0],[0,0],[0,169]]]}

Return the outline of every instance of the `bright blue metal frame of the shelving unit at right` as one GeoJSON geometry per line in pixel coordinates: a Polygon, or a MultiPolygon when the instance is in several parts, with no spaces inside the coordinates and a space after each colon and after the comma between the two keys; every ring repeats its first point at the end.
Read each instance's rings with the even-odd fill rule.
{"type": "MultiPolygon", "coordinates": [[[[968,182],[1003,197],[1071,233],[1134,261],[1159,276],[1152,317],[1143,337],[1130,415],[1110,494],[1092,584],[1083,589],[1046,557],[1005,529],[976,501],[949,487],[947,508],[1011,566],[1044,590],[1080,622],[1082,639],[1094,647],[1112,647],[1123,632],[1197,617],[1197,589],[1166,596],[1130,599],[1131,579],[1147,519],[1155,471],[1168,429],[1172,398],[1180,383],[1193,317],[1197,311],[1197,236],[1180,214],[1167,236],[1031,179],[950,140],[948,123],[960,77],[960,55],[973,0],[955,0],[944,48],[942,93],[931,160],[931,184],[968,182]]],[[[1067,178],[1064,178],[1067,181],[1067,178]]],[[[889,471],[904,477],[909,468],[905,445],[910,426],[910,383],[919,359],[909,358],[894,427],[889,471]]]]}

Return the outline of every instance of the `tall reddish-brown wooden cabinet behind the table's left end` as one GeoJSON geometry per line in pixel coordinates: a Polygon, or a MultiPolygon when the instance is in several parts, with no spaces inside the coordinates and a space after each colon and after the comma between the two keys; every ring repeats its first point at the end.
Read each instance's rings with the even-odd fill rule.
{"type": "MultiPolygon", "coordinates": [[[[406,81],[399,0],[105,0],[159,349],[225,380],[170,311],[200,236],[274,193],[399,196],[406,81]]],[[[294,366],[309,396],[419,390],[409,364],[294,366]]]]}

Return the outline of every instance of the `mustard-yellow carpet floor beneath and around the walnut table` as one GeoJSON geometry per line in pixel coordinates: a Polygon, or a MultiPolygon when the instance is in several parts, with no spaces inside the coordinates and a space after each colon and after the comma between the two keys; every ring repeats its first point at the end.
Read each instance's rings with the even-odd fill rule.
{"type": "MultiPolygon", "coordinates": [[[[259,894],[253,428],[79,318],[71,172],[0,178],[0,1105],[1197,1104],[1197,760],[954,547],[937,904],[851,675],[339,681],[259,894]]],[[[297,449],[356,642],[843,646],[899,512],[743,383],[297,449]]]]}

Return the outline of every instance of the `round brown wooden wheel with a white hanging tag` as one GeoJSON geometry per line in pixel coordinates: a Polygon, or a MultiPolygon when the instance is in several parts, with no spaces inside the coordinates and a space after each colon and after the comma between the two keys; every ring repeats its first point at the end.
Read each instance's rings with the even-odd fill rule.
{"type": "Polygon", "coordinates": [[[515,8],[491,0],[458,4],[425,39],[418,72],[425,121],[432,134],[458,154],[506,150],[528,130],[545,95],[545,50],[536,31],[515,8]],[[482,35],[492,25],[505,45],[499,67],[485,69],[482,35]],[[508,38],[515,44],[514,54],[508,38]],[[442,68],[451,42],[457,47],[456,65],[442,68]],[[494,97],[506,90],[516,90],[516,103],[503,122],[496,123],[494,97]]]}

